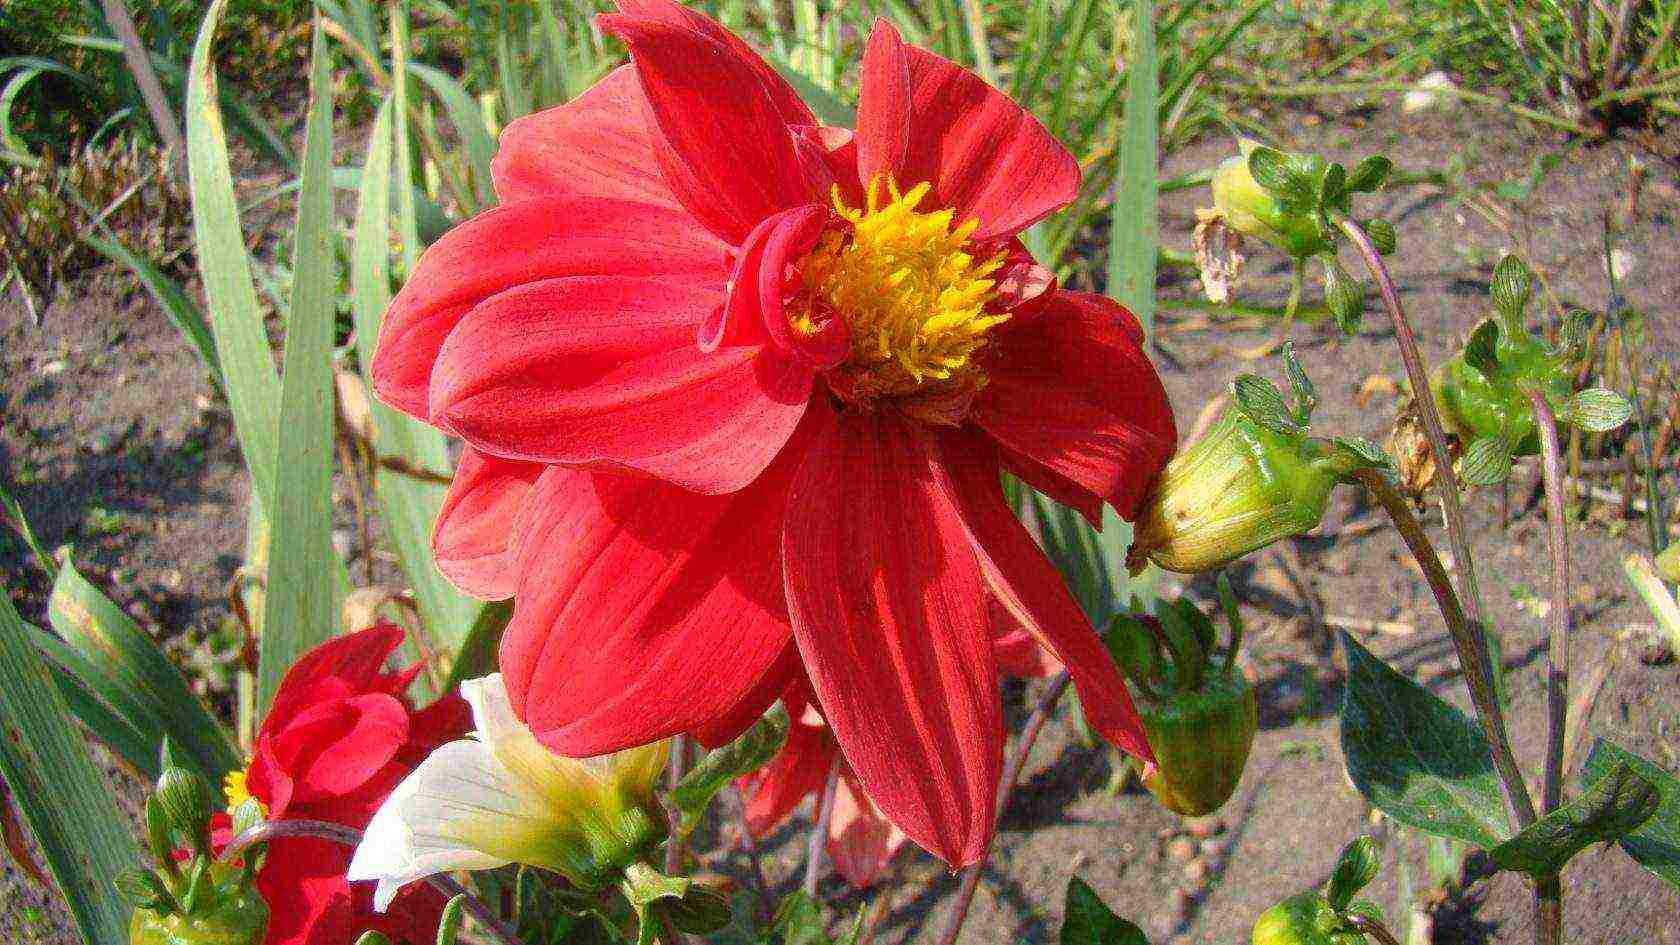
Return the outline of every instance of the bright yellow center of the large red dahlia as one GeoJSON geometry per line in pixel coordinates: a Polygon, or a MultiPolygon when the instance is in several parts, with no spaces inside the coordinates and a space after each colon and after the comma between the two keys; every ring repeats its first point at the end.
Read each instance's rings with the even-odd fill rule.
{"type": "Polygon", "coordinates": [[[788,321],[805,336],[845,323],[850,355],[828,373],[840,400],[890,400],[906,415],[956,424],[986,387],[978,356],[988,333],[1010,318],[988,309],[1005,254],[976,256],[979,220],[953,225],[949,209],[917,210],[931,188],[900,192],[880,175],[864,207],[847,207],[837,187],[833,207],[850,232],[830,230],[811,249],[788,321]]]}

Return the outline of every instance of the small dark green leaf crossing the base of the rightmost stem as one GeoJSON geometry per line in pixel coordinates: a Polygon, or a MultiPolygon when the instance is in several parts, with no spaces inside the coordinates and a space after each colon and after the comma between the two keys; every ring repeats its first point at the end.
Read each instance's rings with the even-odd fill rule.
{"type": "Polygon", "coordinates": [[[1656,814],[1662,795],[1628,762],[1609,765],[1574,802],[1529,824],[1488,851],[1515,873],[1556,876],[1569,859],[1596,842],[1618,841],[1656,814]]]}

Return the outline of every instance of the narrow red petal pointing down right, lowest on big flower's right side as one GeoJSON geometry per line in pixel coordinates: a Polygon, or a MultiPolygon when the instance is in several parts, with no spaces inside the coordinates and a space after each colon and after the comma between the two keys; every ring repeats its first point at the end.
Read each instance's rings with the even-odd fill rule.
{"type": "Polygon", "coordinates": [[[998,602],[1074,676],[1079,705],[1092,728],[1126,752],[1154,763],[1126,679],[1062,575],[1026,528],[1010,513],[998,484],[998,461],[978,436],[941,437],[949,486],[973,540],[979,568],[998,602]]]}

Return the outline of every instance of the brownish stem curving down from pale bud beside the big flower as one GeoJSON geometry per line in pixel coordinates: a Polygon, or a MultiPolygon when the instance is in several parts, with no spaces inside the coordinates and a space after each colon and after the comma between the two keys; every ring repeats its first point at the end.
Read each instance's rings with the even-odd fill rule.
{"type": "Polygon", "coordinates": [[[1446,632],[1453,637],[1458,664],[1463,668],[1465,683],[1470,686],[1470,703],[1475,706],[1477,721],[1482,723],[1482,735],[1487,738],[1488,753],[1494,757],[1494,768],[1499,772],[1505,802],[1510,805],[1519,829],[1527,827],[1536,819],[1534,802],[1529,799],[1529,789],[1522,782],[1522,768],[1517,767],[1517,757],[1510,752],[1510,738],[1505,735],[1505,716],[1500,713],[1499,696],[1494,693],[1494,673],[1487,664],[1487,644],[1465,617],[1452,580],[1446,577],[1446,568],[1441,567],[1441,558],[1435,553],[1435,546],[1430,545],[1430,536],[1423,533],[1418,516],[1411,515],[1406,498],[1394,491],[1394,486],[1389,486],[1383,472],[1376,469],[1359,469],[1354,476],[1381,503],[1383,509],[1388,511],[1401,540],[1406,541],[1406,548],[1411,550],[1411,557],[1423,568],[1423,577],[1435,594],[1435,604],[1446,620],[1446,632]]]}

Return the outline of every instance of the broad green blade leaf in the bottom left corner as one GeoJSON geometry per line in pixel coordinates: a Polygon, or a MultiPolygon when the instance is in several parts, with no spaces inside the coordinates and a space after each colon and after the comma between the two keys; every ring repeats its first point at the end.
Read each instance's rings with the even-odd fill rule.
{"type": "Polygon", "coordinates": [[[87,945],[124,945],[116,878],[139,858],[116,792],[87,757],[45,663],[0,590],[0,780],[87,945]]]}

